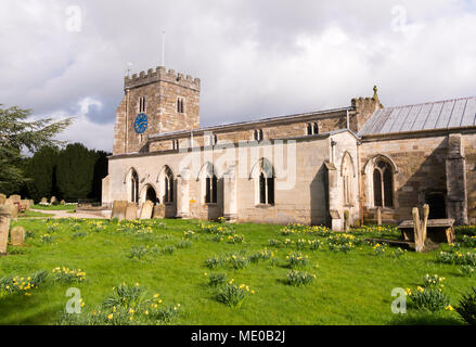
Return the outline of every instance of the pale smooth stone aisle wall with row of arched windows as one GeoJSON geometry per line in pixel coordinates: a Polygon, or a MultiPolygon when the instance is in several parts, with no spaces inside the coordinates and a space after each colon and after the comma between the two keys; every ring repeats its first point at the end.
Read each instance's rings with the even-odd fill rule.
{"type": "MultiPolygon", "coordinates": [[[[160,172],[167,165],[176,180],[175,210],[181,217],[216,219],[220,216],[235,215],[239,221],[329,223],[329,191],[324,162],[335,162],[338,172],[346,153],[357,163],[357,139],[350,132],[344,131],[332,137],[299,138],[295,142],[295,151],[287,146],[281,152],[278,146],[279,144],[262,141],[259,144],[250,142],[249,146],[241,150],[245,152],[241,153],[236,147],[216,147],[213,151],[205,150],[192,154],[169,151],[116,156],[110,160],[108,198],[110,202],[130,200],[128,180],[131,169],[136,169],[140,181],[141,202],[144,200],[146,187],[153,187],[162,201],[160,187],[164,182],[160,172]],[[283,155],[281,159],[280,153],[283,155]],[[273,205],[259,204],[259,185],[255,174],[261,157],[268,158],[274,165],[273,205]],[[205,204],[203,175],[206,163],[215,165],[218,178],[217,204],[205,204]],[[241,165],[237,165],[239,163],[241,165]],[[186,193],[182,194],[185,191],[186,193]]],[[[340,178],[335,189],[342,189],[340,178]]],[[[350,209],[352,218],[357,219],[357,175],[353,177],[352,189],[355,206],[344,206],[343,195],[338,192],[335,193],[337,201],[334,203],[342,216],[344,209],[350,209]]]]}

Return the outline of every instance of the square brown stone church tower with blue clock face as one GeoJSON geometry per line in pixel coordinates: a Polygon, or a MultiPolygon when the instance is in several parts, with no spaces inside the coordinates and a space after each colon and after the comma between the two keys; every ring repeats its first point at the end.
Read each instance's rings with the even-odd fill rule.
{"type": "Polygon", "coordinates": [[[151,134],[200,128],[200,78],[158,66],[124,80],[113,154],[146,150],[151,134]]]}

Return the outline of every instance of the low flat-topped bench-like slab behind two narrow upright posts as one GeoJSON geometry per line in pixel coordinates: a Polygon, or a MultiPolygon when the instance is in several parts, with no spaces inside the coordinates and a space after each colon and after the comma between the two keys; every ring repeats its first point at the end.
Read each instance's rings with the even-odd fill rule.
{"type": "MultiPolygon", "coordinates": [[[[453,243],[454,242],[454,219],[428,219],[426,224],[426,237],[434,243],[453,243]]],[[[404,220],[398,229],[401,231],[401,239],[408,242],[415,241],[415,233],[413,230],[413,220],[404,220]]]]}

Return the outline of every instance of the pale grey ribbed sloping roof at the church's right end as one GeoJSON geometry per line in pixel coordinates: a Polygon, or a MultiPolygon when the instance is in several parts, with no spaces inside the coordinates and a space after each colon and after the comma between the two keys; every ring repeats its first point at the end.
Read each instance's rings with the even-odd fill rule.
{"type": "Polygon", "coordinates": [[[476,126],[476,97],[381,108],[360,136],[476,126]]]}

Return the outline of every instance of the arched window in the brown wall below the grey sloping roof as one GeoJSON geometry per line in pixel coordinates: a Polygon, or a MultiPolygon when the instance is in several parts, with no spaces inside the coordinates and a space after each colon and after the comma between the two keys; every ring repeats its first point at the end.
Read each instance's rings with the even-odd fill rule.
{"type": "Polygon", "coordinates": [[[385,160],[377,160],[373,170],[375,207],[394,207],[394,171],[385,160]]]}

